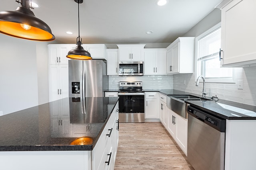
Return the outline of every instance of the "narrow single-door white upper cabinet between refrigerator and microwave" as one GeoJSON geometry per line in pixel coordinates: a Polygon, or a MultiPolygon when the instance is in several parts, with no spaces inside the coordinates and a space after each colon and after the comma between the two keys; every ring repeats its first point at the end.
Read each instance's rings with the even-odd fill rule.
{"type": "Polygon", "coordinates": [[[107,51],[107,74],[118,75],[118,50],[113,51],[111,49],[107,51]]]}

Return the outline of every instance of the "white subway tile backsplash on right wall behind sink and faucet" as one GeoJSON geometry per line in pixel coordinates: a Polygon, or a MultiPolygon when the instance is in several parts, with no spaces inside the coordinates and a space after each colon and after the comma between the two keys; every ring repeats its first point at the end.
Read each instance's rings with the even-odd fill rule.
{"type": "MultiPolygon", "coordinates": [[[[256,106],[256,66],[246,68],[234,68],[235,82],[243,80],[243,89],[239,90],[237,83],[206,83],[206,96],[215,96],[223,100],[250,104],[256,106]]],[[[202,94],[203,84],[195,86],[195,74],[176,74],[173,76],[173,88],[202,94]],[[184,85],[186,80],[186,85],[184,85]],[[185,90],[184,90],[185,89],[185,90]]]]}

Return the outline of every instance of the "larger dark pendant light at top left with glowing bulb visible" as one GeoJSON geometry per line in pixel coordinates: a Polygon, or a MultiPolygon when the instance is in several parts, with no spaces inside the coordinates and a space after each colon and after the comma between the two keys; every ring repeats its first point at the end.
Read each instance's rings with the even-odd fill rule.
{"type": "Polygon", "coordinates": [[[0,12],[0,33],[36,41],[55,39],[50,27],[44,21],[36,18],[30,10],[29,0],[16,0],[16,2],[21,6],[15,11],[0,12]]]}

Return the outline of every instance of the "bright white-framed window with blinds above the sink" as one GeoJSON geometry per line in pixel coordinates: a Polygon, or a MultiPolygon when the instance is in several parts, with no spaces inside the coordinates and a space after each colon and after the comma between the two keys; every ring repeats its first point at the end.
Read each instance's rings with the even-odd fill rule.
{"type": "Polygon", "coordinates": [[[219,23],[196,37],[196,78],[203,75],[206,82],[234,82],[233,68],[220,67],[220,36],[219,23]]]}

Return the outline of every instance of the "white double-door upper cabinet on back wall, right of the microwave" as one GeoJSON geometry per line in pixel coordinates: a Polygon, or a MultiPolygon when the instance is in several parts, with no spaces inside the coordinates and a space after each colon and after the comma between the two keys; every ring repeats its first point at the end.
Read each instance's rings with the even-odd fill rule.
{"type": "Polygon", "coordinates": [[[166,49],[144,49],[144,75],[166,74],[166,49]]]}

